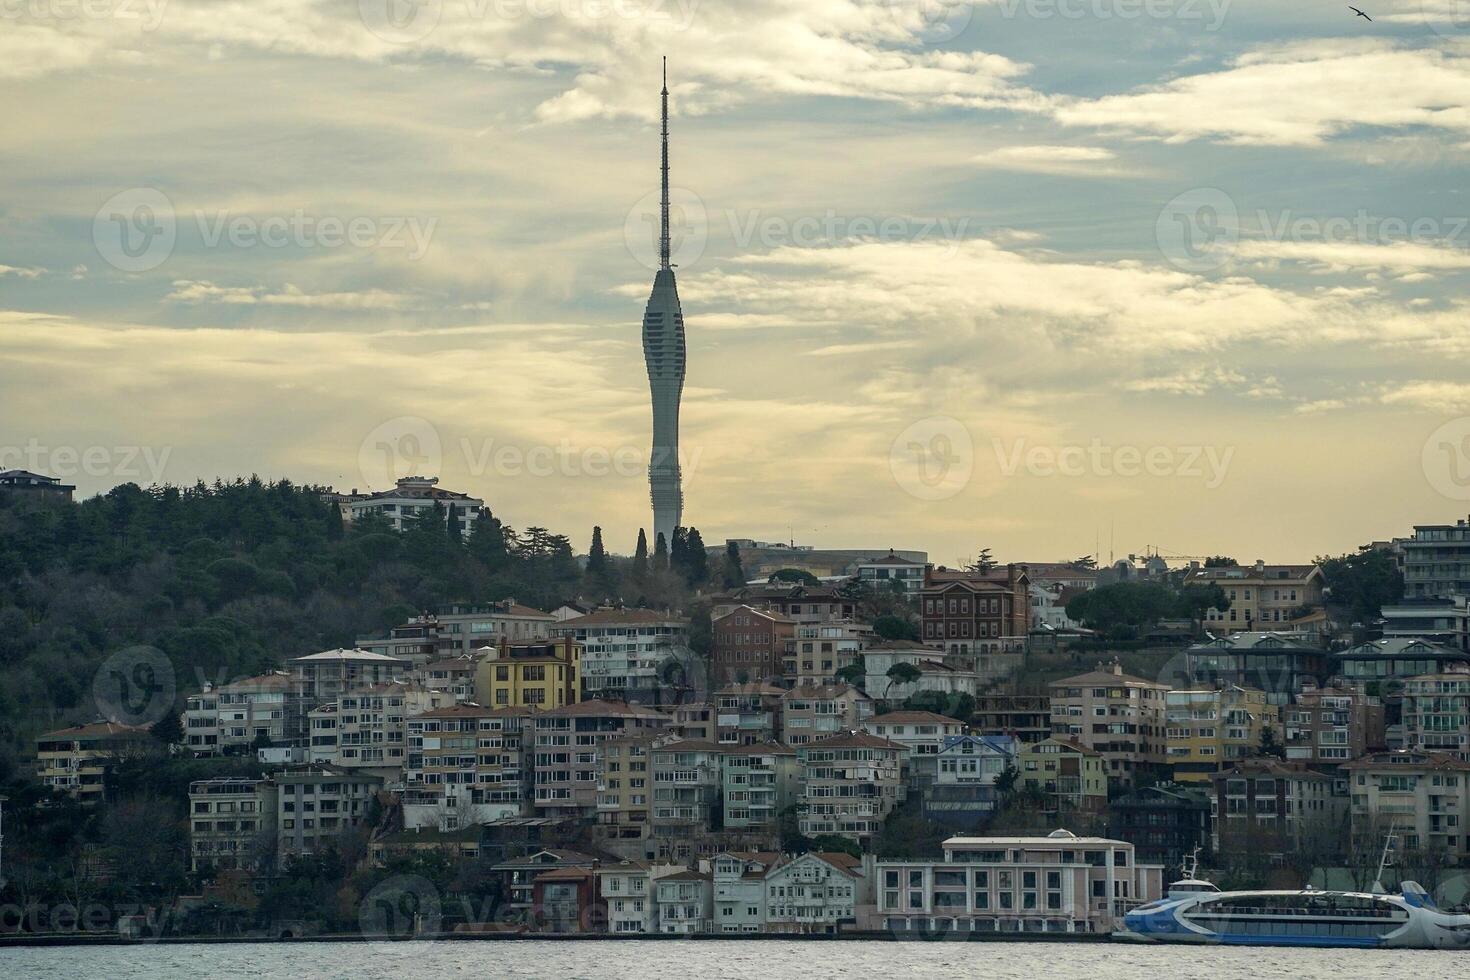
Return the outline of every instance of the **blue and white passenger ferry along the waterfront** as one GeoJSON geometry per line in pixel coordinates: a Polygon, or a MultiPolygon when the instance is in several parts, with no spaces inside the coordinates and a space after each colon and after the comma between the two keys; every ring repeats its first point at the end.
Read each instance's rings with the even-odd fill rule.
{"type": "Polygon", "coordinates": [[[1470,949],[1470,915],[1441,911],[1414,882],[1404,882],[1398,895],[1313,887],[1222,892],[1186,867],[1167,898],[1129,911],[1114,937],[1225,946],[1470,949]]]}

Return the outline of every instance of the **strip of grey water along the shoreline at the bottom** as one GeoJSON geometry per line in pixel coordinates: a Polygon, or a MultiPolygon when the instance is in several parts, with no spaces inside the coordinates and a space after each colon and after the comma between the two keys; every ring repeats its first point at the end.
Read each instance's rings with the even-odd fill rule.
{"type": "Polygon", "coordinates": [[[4,980],[1354,980],[1470,976],[1470,952],[886,942],[406,942],[0,949],[4,980]]]}

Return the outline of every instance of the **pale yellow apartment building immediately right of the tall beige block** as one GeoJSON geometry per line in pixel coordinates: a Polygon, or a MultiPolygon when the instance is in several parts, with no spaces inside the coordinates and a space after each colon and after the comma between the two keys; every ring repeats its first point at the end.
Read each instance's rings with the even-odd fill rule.
{"type": "Polygon", "coordinates": [[[1216,773],[1257,755],[1266,729],[1282,743],[1280,708],[1264,691],[1170,691],[1164,704],[1175,782],[1208,783],[1216,773]]]}

